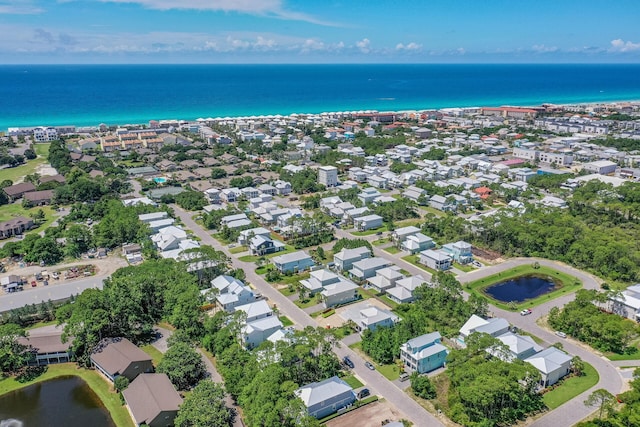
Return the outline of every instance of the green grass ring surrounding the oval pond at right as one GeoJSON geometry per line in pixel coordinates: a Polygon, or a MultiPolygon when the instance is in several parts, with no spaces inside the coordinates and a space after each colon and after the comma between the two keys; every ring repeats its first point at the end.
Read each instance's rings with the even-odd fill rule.
{"type": "Polygon", "coordinates": [[[560,295],[571,293],[579,289],[580,286],[582,286],[582,282],[571,275],[562,273],[549,267],[545,267],[543,265],[539,266],[539,268],[533,268],[533,265],[530,264],[520,265],[518,267],[514,267],[500,273],[492,274],[491,276],[487,276],[484,279],[476,280],[464,285],[465,289],[469,290],[472,293],[475,293],[478,296],[487,298],[491,304],[504,310],[514,311],[520,311],[523,308],[535,307],[537,305],[543,304],[553,298],[559,297],[560,295]],[[515,308],[511,307],[508,303],[497,301],[483,292],[483,290],[490,285],[526,275],[549,277],[555,282],[559,282],[560,287],[554,291],[549,292],[548,294],[541,295],[538,298],[517,303],[515,304],[515,308]]]}

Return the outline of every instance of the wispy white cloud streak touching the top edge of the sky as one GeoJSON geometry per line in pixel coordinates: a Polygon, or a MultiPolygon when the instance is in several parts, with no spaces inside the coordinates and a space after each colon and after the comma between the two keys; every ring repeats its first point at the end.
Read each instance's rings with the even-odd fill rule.
{"type": "Polygon", "coordinates": [[[283,0],[100,0],[103,3],[139,4],[154,10],[209,10],[262,15],[287,21],[337,27],[334,22],[317,19],[302,12],[287,10],[283,0]]]}

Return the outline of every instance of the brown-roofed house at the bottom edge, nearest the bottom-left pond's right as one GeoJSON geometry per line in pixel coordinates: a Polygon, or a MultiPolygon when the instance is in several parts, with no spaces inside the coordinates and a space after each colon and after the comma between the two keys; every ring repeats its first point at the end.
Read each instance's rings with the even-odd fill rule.
{"type": "Polygon", "coordinates": [[[167,374],[138,375],[122,397],[136,426],[172,426],[182,404],[167,374]]]}

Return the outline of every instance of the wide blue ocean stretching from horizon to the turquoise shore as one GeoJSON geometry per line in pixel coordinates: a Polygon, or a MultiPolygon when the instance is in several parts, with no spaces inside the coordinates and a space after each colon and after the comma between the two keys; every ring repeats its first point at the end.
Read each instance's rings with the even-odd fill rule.
{"type": "Polygon", "coordinates": [[[6,65],[14,126],[640,100],[640,65],[6,65]]]}

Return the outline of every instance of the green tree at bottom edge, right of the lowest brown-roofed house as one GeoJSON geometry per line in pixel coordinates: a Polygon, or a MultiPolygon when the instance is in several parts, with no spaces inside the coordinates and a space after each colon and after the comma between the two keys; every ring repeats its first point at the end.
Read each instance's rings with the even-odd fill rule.
{"type": "Polygon", "coordinates": [[[176,427],[225,427],[233,425],[233,416],[224,404],[224,389],[210,380],[198,383],[184,399],[176,427]]]}

